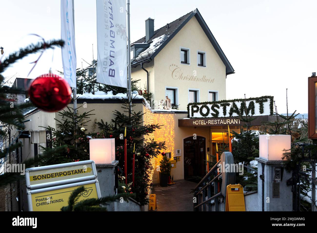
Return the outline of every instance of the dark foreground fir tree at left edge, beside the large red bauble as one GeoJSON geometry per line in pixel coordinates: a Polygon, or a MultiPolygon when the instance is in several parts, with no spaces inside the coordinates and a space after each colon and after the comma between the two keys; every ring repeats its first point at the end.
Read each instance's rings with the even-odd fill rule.
{"type": "MultiPolygon", "coordinates": [[[[32,103],[23,103],[18,105],[15,103],[15,99],[9,97],[12,94],[25,94],[26,90],[6,86],[2,73],[8,67],[12,66],[16,61],[26,57],[29,54],[42,52],[45,49],[61,47],[63,44],[64,42],[61,40],[52,40],[31,44],[24,49],[20,49],[19,51],[10,54],[2,62],[0,62],[0,143],[2,145],[0,147],[1,163],[7,162],[11,164],[19,162],[12,157],[16,149],[23,146],[20,142],[17,142],[18,138],[23,135],[23,130],[25,129],[23,110],[33,106],[32,103]],[[14,134],[12,130],[17,133],[14,134]],[[12,140],[13,135],[14,138],[12,140]]],[[[49,157],[52,154],[61,152],[63,150],[63,147],[54,148],[47,153],[47,156],[49,157]]],[[[42,156],[39,156],[37,160],[28,159],[23,161],[23,164],[25,164],[26,167],[31,167],[32,165],[37,164],[42,158],[42,156]]],[[[4,169],[6,168],[4,167],[4,169]]],[[[11,182],[14,182],[20,178],[24,179],[20,172],[5,172],[0,176],[0,186],[10,184],[11,182]]]]}

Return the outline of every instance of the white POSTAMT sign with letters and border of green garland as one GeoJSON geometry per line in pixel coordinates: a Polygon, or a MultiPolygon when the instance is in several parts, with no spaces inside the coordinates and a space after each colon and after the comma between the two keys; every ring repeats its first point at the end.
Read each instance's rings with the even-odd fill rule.
{"type": "Polygon", "coordinates": [[[243,115],[273,115],[273,96],[249,99],[189,103],[188,118],[235,117],[243,115]]]}

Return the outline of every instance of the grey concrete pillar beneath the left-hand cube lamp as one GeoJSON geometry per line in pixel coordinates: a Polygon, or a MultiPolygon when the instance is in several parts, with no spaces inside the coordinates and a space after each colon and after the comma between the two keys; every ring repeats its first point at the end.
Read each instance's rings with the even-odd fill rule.
{"type": "MultiPolygon", "coordinates": [[[[114,168],[119,161],[113,161],[112,164],[96,164],[97,179],[99,181],[101,197],[113,196],[117,194],[115,187],[115,172],[114,168]]],[[[108,211],[117,211],[118,203],[112,202],[106,206],[108,211]]]]}

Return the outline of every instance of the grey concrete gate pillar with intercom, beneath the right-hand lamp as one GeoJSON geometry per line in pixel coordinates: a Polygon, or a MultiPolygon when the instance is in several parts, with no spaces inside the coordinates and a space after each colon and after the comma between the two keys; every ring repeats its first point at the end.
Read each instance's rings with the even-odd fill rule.
{"type": "Polygon", "coordinates": [[[292,211],[292,186],[286,181],[292,177],[284,168],[283,161],[258,161],[258,203],[259,211],[292,211]]]}

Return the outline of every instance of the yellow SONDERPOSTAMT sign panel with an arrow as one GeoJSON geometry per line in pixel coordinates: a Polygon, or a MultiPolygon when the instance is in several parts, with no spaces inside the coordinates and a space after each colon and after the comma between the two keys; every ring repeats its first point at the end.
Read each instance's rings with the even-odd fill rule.
{"type": "Polygon", "coordinates": [[[30,171],[30,185],[94,175],[91,163],[46,170],[30,171]]]}

